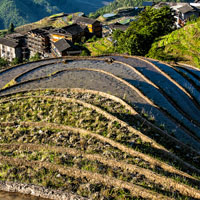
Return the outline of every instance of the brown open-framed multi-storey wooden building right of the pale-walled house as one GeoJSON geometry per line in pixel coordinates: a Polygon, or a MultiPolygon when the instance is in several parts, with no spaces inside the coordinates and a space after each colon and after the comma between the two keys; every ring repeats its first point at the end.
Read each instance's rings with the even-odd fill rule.
{"type": "Polygon", "coordinates": [[[42,58],[48,57],[50,53],[49,30],[33,29],[27,33],[27,47],[30,50],[30,57],[39,53],[42,58]]]}

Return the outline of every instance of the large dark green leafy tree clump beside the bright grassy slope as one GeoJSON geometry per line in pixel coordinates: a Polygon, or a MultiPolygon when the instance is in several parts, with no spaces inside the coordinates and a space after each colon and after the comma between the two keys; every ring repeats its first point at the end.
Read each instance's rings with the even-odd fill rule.
{"type": "Polygon", "coordinates": [[[114,40],[117,41],[114,49],[119,53],[144,56],[155,38],[173,30],[173,24],[174,17],[169,7],[162,9],[147,7],[125,33],[117,31],[113,34],[114,40]]]}

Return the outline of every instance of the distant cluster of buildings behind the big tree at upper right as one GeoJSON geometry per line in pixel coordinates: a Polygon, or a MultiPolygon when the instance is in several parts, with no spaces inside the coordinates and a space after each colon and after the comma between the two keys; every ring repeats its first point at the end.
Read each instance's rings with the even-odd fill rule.
{"type": "MultiPolygon", "coordinates": [[[[118,20],[113,24],[103,26],[103,36],[109,36],[113,33],[113,30],[119,29],[125,31],[131,21],[137,20],[133,16],[138,15],[139,12],[143,11],[147,6],[153,7],[155,9],[160,9],[164,6],[169,6],[174,11],[175,26],[177,28],[183,27],[189,18],[200,16],[200,0],[195,0],[194,3],[183,3],[183,2],[154,2],[154,1],[144,1],[142,4],[143,8],[126,8],[121,9],[117,13],[107,13],[103,15],[106,21],[112,21],[115,19],[121,19],[124,17],[127,20],[118,20]],[[129,20],[128,20],[129,19],[129,20]]],[[[112,37],[108,37],[112,38],[112,37]]],[[[110,39],[112,40],[112,39],[110,39]]]]}

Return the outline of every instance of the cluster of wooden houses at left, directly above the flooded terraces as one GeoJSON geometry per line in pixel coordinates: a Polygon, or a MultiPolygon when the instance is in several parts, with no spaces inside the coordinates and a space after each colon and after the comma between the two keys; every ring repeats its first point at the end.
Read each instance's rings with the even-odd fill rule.
{"type": "Polygon", "coordinates": [[[8,61],[29,59],[36,53],[41,58],[79,55],[75,43],[83,38],[102,37],[99,21],[87,17],[74,17],[73,24],[63,28],[37,28],[25,34],[13,33],[0,38],[0,57],[8,61]]]}

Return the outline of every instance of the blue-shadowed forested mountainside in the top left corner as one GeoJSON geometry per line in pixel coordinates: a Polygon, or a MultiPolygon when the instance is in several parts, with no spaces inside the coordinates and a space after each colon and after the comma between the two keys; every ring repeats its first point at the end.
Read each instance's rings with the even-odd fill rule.
{"type": "Polygon", "coordinates": [[[11,22],[16,26],[38,21],[58,12],[82,11],[88,14],[99,9],[111,0],[0,0],[0,29],[11,22]]]}

